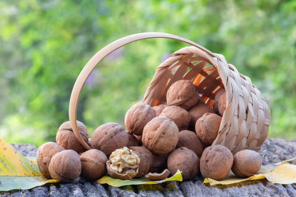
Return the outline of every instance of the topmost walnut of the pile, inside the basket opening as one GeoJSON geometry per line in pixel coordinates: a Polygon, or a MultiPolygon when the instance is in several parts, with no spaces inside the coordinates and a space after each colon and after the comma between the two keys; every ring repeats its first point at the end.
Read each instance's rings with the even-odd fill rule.
{"type": "Polygon", "coordinates": [[[193,83],[185,79],[173,83],[167,92],[168,106],[176,105],[184,109],[190,109],[198,102],[199,98],[193,83]]]}

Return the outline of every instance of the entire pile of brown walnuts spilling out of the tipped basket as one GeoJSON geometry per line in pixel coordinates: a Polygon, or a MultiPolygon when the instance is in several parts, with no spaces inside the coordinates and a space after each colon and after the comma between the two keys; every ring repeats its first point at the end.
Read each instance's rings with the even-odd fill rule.
{"type": "Polygon", "coordinates": [[[37,164],[47,178],[71,182],[78,176],[98,180],[111,177],[162,180],[179,169],[183,179],[202,176],[225,178],[230,170],[239,177],[257,173],[259,154],[243,150],[235,154],[216,139],[226,108],[226,94],[217,93],[214,108],[205,104],[189,80],[175,82],[167,92],[167,105],[137,103],[125,115],[126,130],[117,123],[97,128],[91,139],[85,125],[78,130],[91,150],[76,139],[70,122],[61,125],[56,142],[39,147],[37,164]],[[206,148],[205,148],[206,147],[206,148]],[[109,158],[109,159],[108,159],[109,158]]]}

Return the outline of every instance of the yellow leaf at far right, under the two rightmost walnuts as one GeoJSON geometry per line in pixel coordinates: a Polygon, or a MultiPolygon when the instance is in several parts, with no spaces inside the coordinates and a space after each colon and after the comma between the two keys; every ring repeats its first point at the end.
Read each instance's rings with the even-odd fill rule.
{"type": "Polygon", "coordinates": [[[228,176],[223,179],[222,181],[216,181],[210,178],[205,178],[204,183],[210,183],[210,185],[229,185],[234,183],[239,183],[243,181],[251,181],[251,180],[259,180],[266,178],[269,181],[274,181],[272,183],[281,183],[281,184],[290,184],[290,183],[296,183],[296,168],[293,167],[295,165],[289,164],[288,162],[291,162],[293,160],[296,160],[296,158],[286,160],[283,162],[279,162],[276,164],[268,164],[268,165],[262,165],[259,172],[257,172],[255,175],[249,177],[249,178],[240,178],[235,176],[232,171],[229,172],[228,176]],[[289,173],[285,173],[285,170],[289,171],[289,173]],[[290,176],[289,176],[290,175],[290,176]],[[283,177],[287,178],[285,183],[283,177]],[[278,182],[277,182],[278,181],[278,182]]]}

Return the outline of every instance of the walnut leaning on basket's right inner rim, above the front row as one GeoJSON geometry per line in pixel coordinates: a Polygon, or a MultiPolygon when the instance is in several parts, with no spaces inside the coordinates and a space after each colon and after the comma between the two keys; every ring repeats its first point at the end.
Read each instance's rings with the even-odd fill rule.
{"type": "Polygon", "coordinates": [[[195,132],[204,145],[213,144],[217,138],[221,121],[221,116],[212,113],[205,113],[196,121],[195,132]]]}

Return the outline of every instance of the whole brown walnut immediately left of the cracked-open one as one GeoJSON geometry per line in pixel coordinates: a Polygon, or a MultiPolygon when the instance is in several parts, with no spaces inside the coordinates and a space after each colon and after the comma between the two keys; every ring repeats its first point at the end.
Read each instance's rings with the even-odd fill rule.
{"type": "Polygon", "coordinates": [[[81,174],[86,180],[94,181],[102,178],[107,173],[107,156],[102,151],[91,149],[80,155],[81,174]]]}

